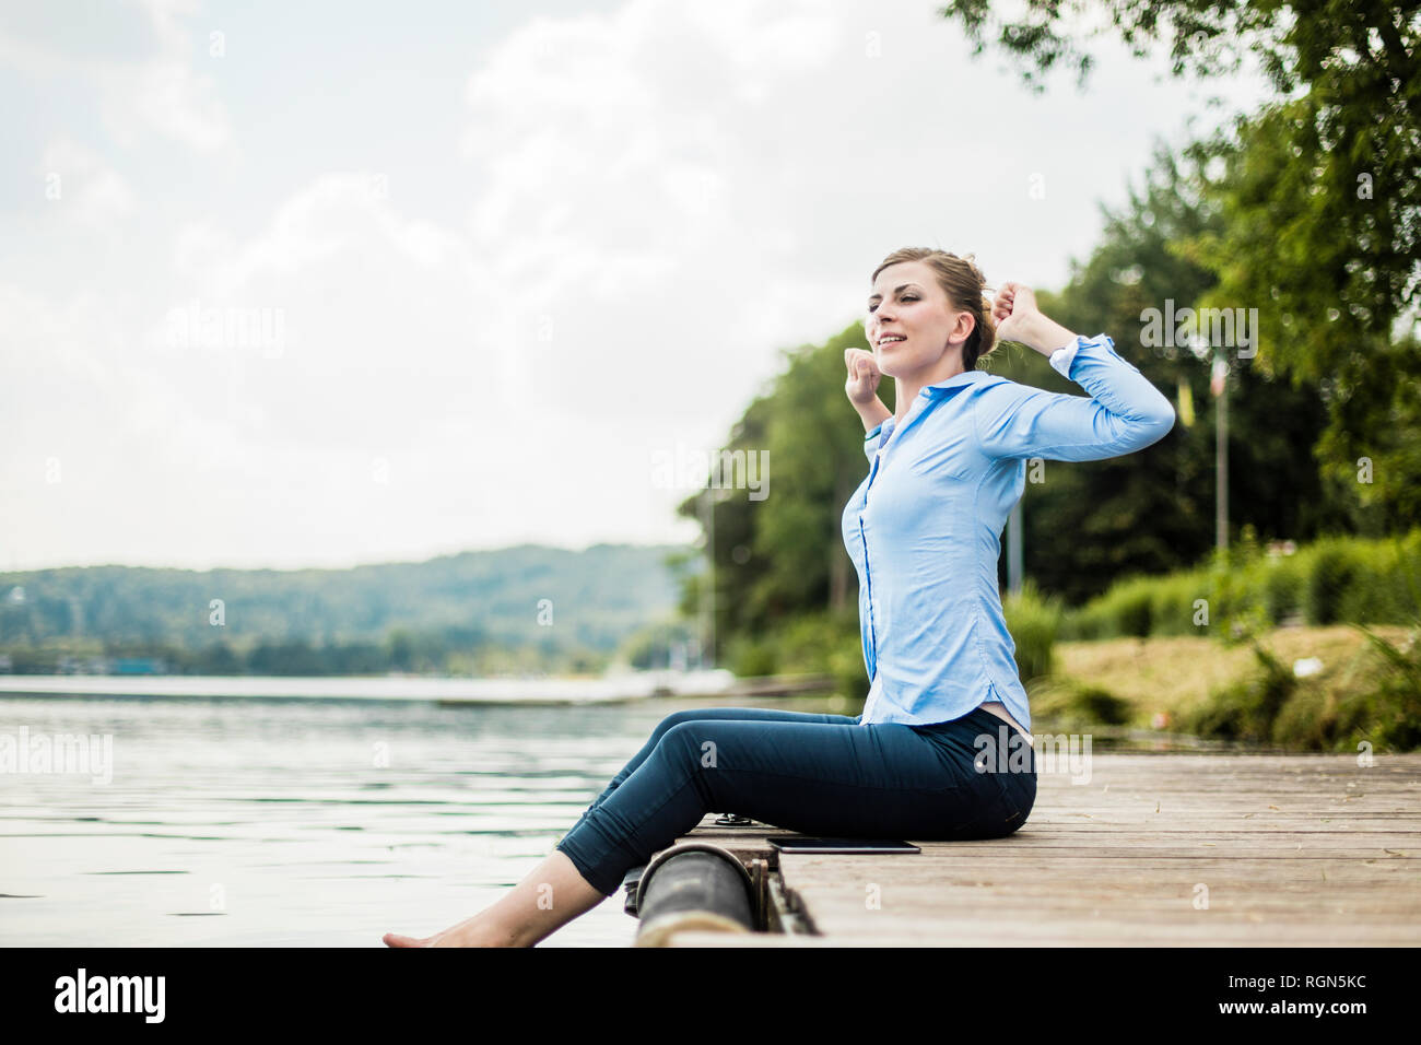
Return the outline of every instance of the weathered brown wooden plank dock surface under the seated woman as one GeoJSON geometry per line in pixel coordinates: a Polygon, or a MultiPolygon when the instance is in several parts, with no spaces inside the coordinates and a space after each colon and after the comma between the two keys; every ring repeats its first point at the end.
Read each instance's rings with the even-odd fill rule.
{"type": "Polygon", "coordinates": [[[679,840],[777,866],[811,934],[669,945],[1421,944],[1421,754],[1096,754],[1088,782],[1040,773],[1015,835],[915,854],[780,856],[784,830],[713,820],[679,840]]]}

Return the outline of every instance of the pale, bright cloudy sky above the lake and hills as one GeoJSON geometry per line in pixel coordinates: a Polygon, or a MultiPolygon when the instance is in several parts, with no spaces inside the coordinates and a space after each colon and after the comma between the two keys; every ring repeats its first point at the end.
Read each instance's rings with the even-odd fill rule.
{"type": "Polygon", "coordinates": [[[689,542],[884,256],[1059,287],[1266,97],[939,6],[0,3],[0,570],[689,542]]]}

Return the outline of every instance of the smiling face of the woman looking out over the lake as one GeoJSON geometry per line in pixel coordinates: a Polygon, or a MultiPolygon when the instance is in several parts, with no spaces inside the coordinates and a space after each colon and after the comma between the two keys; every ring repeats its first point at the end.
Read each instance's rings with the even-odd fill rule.
{"type": "Polygon", "coordinates": [[[972,313],[952,309],[926,262],[898,262],[874,282],[864,333],[878,370],[888,377],[908,377],[934,367],[944,353],[961,345],[972,323],[972,313]]]}

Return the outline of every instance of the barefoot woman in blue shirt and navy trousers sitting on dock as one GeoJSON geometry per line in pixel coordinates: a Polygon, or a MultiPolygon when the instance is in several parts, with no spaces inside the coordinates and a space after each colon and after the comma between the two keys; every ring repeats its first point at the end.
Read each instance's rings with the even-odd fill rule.
{"type": "Polygon", "coordinates": [[[1104,334],[1049,320],[1006,283],[988,307],[968,259],[908,247],[874,272],[872,351],[844,353],[868,429],[867,478],[844,508],[871,685],[861,715],[702,708],[661,721],[554,852],[510,893],[392,947],[531,947],[709,812],[838,837],[1003,837],[1036,799],[1030,709],[1002,618],[999,536],[1026,461],[1142,449],[1174,408],[1104,334]],[[996,338],[1050,358],[1090,398],[976,370],[996,338]],[[897,382],[897,411],[877,395],[897,382]]]}

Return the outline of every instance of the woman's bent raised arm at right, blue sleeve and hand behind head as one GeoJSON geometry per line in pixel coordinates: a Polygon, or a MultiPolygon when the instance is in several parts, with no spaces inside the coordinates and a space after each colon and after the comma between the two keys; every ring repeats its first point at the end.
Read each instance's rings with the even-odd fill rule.
{"type": "Polygon", "coordinates": [[[973,424],[992,458],[1100,461],[1133,454],[1174,428],[1174,407],[1104,334],[1080,337],[1040,313],[1030,289],[1007,283],[993,316],[998,337],[1020,341],[1090,398],[1003,382],[973,404],[973,424]]]}

